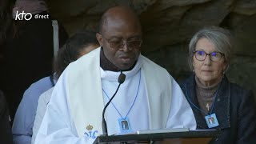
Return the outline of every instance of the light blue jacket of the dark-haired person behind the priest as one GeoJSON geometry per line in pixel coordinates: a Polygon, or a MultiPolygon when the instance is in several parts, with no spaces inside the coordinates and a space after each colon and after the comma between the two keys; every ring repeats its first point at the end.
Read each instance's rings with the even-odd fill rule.
{"type": "Polygon", "coordinates": [[[25,91],[14,117],[12,127],[14,144],[31,143],[38,99],[42,93],[52,88],[55,83],[56,80],[50,77],[42,78],[38,82],[34,82],[25,91]]]}

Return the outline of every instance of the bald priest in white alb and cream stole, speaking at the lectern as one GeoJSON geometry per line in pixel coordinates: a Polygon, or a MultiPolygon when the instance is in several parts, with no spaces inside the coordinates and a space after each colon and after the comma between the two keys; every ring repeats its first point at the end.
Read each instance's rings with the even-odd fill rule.
{"type": "Polygon", "coordinates": [[[58,79],[35,143],[91,144],[102,134],[106,108],[108,135],[138,130],[196,128],[194,114],[181,88],[168,72],[140,54],[138,17],[123,6],[103,14],[101,47],[72,62],[58,79]]]}

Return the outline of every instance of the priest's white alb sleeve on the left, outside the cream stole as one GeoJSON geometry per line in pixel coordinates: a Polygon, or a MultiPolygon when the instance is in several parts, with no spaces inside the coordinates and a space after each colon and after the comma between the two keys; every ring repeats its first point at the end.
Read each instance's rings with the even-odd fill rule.
{"type": "Polygon", "coordinates": [[[91,144],[94,142],[93,138],[86,135],[82,138],[78,137],[74,122],[70,118],[65,79],[65,75],[62,74],[54,87],[46,114],[35,139],[36,144],[91,144]]]}

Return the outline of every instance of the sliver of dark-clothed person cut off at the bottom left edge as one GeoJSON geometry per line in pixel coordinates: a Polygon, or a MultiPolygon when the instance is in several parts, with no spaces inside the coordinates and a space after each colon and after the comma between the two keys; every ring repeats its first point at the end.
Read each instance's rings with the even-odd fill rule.
{"type": "Polygon", "coordinates": [[[12,144],[12,135],[10,130],[9,113],[6,104],[6,98],[0,90],[0,143],[12,144]]]}

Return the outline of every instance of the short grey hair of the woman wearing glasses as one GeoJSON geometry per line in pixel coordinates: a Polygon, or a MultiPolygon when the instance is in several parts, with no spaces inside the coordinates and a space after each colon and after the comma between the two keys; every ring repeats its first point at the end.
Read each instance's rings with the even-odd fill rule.
{"type": "Polygon", "coordinates": [[[210,26],[210,27],[203,28],[202,30],[199,30],[196,34],[194,34],[193,38],[191,38],[190,45],[189,45],[189,58],[188,58],[190,69],[193,70],[192,62],[193,62],[194,50],[200,38],[207,38],[210,42],[214,44],[217,52],[224,54],[225,62],[227,64],[226,66],[226,69],[227,69],[227,67],[230,64],[231,58],[233,57],[232,36],[229,30],[226,30],[218,26],[210,26]]]}

